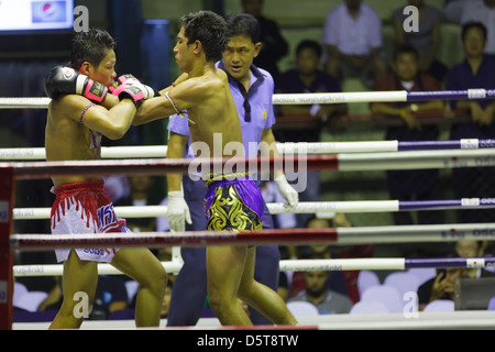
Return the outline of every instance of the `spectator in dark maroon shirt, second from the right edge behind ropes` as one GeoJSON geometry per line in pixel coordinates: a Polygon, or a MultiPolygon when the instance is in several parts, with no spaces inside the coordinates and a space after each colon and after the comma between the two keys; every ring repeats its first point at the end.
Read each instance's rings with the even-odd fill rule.
{"type": "MultiPolygon", "coordinates": [[[[440,84],[431,76],[418,70],[418,52],[409,46],[398,47],[394,54],[394,73],[382,80],[375,90],[440,90],[440,84]]],[[[430,100],[421,103],[373,102],[371,111],[382,113],[400,121],[399,124],[387,128],[385,139],[398,141],[431,141],[439,136],[435,124],[421,123],[416,112],[443,109],[441,100],[430,100]]],[[[392,199],[425,200],[431,199],[438,179],[438,170],[388,170],[387,187],[392,199]]],[[[418,212],[419,223],[436,223],[438,215],[429,211],[418,212]]],[[[395,212],[396,224],[414,223],[410,212],[395,212]]]]}

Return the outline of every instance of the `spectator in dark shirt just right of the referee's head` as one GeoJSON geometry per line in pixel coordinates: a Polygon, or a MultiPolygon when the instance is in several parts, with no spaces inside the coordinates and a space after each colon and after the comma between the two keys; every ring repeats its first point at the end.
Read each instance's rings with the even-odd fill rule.
{"type": "MultiPolygon", "coordinates": [[[[278,77],[275,82],[276,94],[309,94],[309,92],[340,92],[339,81],[329,74],[318,69],[322,50],[315,41],[301,41],[296,48],[296,68],[289,69],[278,77]]],[[[323,125],[346,111],[345,105],[280,105],[283,117],[302,116],[308,119],[295,127],[284,128],[283,124],[275,132],[276,140],[285,142],[319,142],[323,125]]],[[[307,185],[299,194],[304,201],[320,200],[320,172],[308,170],[307,185]]],[[[298,213],[297,227],[302,228],[310,215],[298,213]]]]}

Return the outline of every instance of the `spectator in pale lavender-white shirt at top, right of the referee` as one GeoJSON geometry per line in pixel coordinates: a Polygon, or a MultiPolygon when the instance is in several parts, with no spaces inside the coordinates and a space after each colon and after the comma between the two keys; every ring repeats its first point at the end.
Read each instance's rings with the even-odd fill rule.
{"type": "Polygon", "coordinates": [[[358,77],[371,88],[386,75],[382,20],[362,0],[344,0],[328,13],[323,44],[329,55],[327,72],[338,79],[358,77]]]}

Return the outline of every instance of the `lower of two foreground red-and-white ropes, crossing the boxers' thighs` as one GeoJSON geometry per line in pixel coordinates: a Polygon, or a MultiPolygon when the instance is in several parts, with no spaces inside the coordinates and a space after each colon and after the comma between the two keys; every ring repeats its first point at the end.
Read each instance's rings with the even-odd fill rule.
{"type": "Polygon", "coordinates": [[[193,246],[206,245],[334,245],[455,242],[459,240],[493,241],[495,223],[448,223],[416,226],[376,226],[324,229],[265,229],[263,231],[185,231],[139,232],[134,234],[87,233],[10,235],[12,250],[44,251],[55,248],[120,248],[120,246],[193,246]]]}

